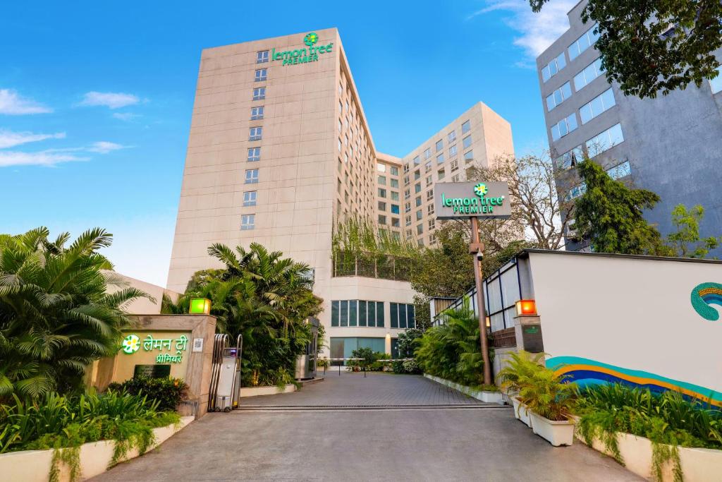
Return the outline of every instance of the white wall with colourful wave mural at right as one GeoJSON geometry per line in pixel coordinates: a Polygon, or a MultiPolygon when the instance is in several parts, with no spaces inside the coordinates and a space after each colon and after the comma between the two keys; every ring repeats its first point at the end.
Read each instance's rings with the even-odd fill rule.
{"type": "Polygon", "coordinates": [[[690,303],[695,286],[722,283],[721,263],[558,252],[529,257],[547,366],[573,363],[567,370],[606,371],[705,397],[715,390],[722,405],[722,320],[700,317],[690,303]]]}

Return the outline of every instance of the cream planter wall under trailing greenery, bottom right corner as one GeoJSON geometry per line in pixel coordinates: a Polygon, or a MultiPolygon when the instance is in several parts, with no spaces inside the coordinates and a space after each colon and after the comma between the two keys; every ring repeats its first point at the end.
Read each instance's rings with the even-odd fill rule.
{"type": "MultiPolygon", "coordinates": [[[[584,439],[581,442],[586,443],[584,439]]],[[[652,442],[642,436],[617,433],[619,453],[625,467],[646,479],[652,479],[652,442]]],[[[594,439],[591,447],[605,455],[612,453],[604,443],[594,439]]],[[[720,480],[722,474],[722,450],[677,447],[679,462],[686,482],[713,482],[720,480]]],[[[674,481],[673,464],[667,462],[662,470],[662,482],[674,481]]]]}

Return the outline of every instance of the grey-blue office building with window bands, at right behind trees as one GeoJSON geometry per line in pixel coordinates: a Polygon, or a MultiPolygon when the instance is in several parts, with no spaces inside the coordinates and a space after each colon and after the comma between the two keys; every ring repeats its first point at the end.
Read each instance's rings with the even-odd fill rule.
{"type": "MultiPolygon", "coordinates": [[[[549,147],[560,183],[571,189],[568,197],[584,192],[573,168],[586,152],[612,178],[661,197],[645,218],[663,236],[672,230],[671,210],[679,204],[703,205],[701,235],[720,236],[722,75],[655,99],[625,97],[606,81],[594,48],[596,25],[580,19],[585,6],[580,1],[570,10],[569,30],[536,59],[549,147]]],[[[721,59],[722,51],[716,55],[721,59]]]]}

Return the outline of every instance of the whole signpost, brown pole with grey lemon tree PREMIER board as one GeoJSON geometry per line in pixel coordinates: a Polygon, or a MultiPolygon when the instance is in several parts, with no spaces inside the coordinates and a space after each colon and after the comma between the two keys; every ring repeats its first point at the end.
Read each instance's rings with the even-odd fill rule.
{"type": "Polygon", "coordinates": [[[479,334],[482,338],[484,359],[484,384],[492,384],[492,367],[489,360],[489,337],[482,286],[482,258],[484,244],[479,241],[479,218],[509,219],[511,202],[509,186],[505,182],[443,182],[434,186],[436,218],[440,220],[471,220],[471,244],[469,254],[474,256],[474,280],[477,285],[479,306],[479,334]]]}

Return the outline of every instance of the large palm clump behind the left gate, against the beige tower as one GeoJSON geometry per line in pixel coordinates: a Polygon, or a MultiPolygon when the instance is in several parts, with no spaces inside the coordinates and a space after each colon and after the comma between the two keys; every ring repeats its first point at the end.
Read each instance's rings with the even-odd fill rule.
{"type": "Polygon", "coordinates": [[[187,313],[191,298],[209,298],[219,332],[232,340],[243,335],[245,386],[253,385],[254,373],[262,385],[291,383],[296,358],[312,336],[305,320],[321,311],[321,299],[311,291],[310,267],[258,243],[235,251],[214,244],[208,252],[225,268],[197,272],[186,293],[176,303],[167,300],[163,312],[187,313]]]}

